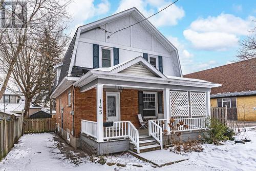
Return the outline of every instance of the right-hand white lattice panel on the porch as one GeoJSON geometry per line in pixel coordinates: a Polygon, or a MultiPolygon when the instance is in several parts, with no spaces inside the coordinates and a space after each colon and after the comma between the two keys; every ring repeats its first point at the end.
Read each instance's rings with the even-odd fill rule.
{"type": "Polygon", "coordinates": [[[204,92],[191,92],[191,115],[206,115],[206,94],[204,92]]]}

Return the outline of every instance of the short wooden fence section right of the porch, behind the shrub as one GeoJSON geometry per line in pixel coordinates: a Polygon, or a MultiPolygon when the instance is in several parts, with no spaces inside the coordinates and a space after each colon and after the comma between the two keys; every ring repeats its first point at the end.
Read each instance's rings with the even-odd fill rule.
{"type": "Polygon", "coordinates": [[[211,118],[218,119],[222,124],[227,125],[227,107],[211,107],[211,118]]]}

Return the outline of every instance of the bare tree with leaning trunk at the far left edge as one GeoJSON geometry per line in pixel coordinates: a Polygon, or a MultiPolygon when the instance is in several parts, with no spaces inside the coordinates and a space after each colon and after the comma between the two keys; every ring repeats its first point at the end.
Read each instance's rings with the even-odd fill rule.
{"type": "MultiPolygon", "coordinates": [[[[12,6],[13,8],[8,10],[6,8],[8,4],[4,0],[1,1],[0,7],[10,17],[9,21],[11,24],[6,23],[0,33],[0,48],[4,49],[0,51],[0,60],[5,68],[8,68],[5,70],[6,77],[0,90],[0,99],[3,96],[14,65],[23,48],[30,45],[30,40],[38,40],[38,35],[44,32],[44,27],[42,26],[46,23],[51,22],[53,19],[63,23],[67,22],[65,20],[69,16],[65,9],[69,3],[69,0],[62,4],[58,0],[27,0],[26,2],[17,0],[12,6]],[[22,12],[19,13],[17,10],[21,10],[22,12]]],[[[7,21],[8,18],[3,19],[7,21]]],[[[59,26],[63,27],[63,23],[62,26],[59,26]]],[[[33,43],[32,46],[34,46],[33,43]]],[[[23,72],[23,70],[20,72],[23,72]]]]}

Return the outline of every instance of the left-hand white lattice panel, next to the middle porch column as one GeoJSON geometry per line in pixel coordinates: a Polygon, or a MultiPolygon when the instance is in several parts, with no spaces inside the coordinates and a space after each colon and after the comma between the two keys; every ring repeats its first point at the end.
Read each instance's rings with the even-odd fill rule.
{"type": "Polygon", "coordinates": [[[172,116],[189,116],[188,92],[170,91],[172,116]]]}

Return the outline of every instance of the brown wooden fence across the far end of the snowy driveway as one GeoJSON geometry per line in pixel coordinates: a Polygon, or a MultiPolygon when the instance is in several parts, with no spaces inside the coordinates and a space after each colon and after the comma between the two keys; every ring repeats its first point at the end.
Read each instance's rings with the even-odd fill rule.
{"type": "Polygon", "coordinates": [[[24,134],[54,132],[56,118],[24,119],[24,134]]]}

